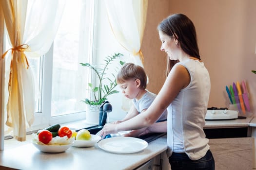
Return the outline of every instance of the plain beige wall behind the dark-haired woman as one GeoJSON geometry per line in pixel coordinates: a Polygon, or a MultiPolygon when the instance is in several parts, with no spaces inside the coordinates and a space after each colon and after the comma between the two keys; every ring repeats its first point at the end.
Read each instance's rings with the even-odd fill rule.
{"type": "Polygon", "coordinates": [[[150,77],[148,89],[156,93],[165,68],[156,28],[174,13],[190,17],[197,29],[201,58],[211,77],[208,106],[227,107],[225,85],[245,80],[255,110],[256,74],[251,70],[256,70],[256,0],[149,0],[142,50],[150,77]]]}

